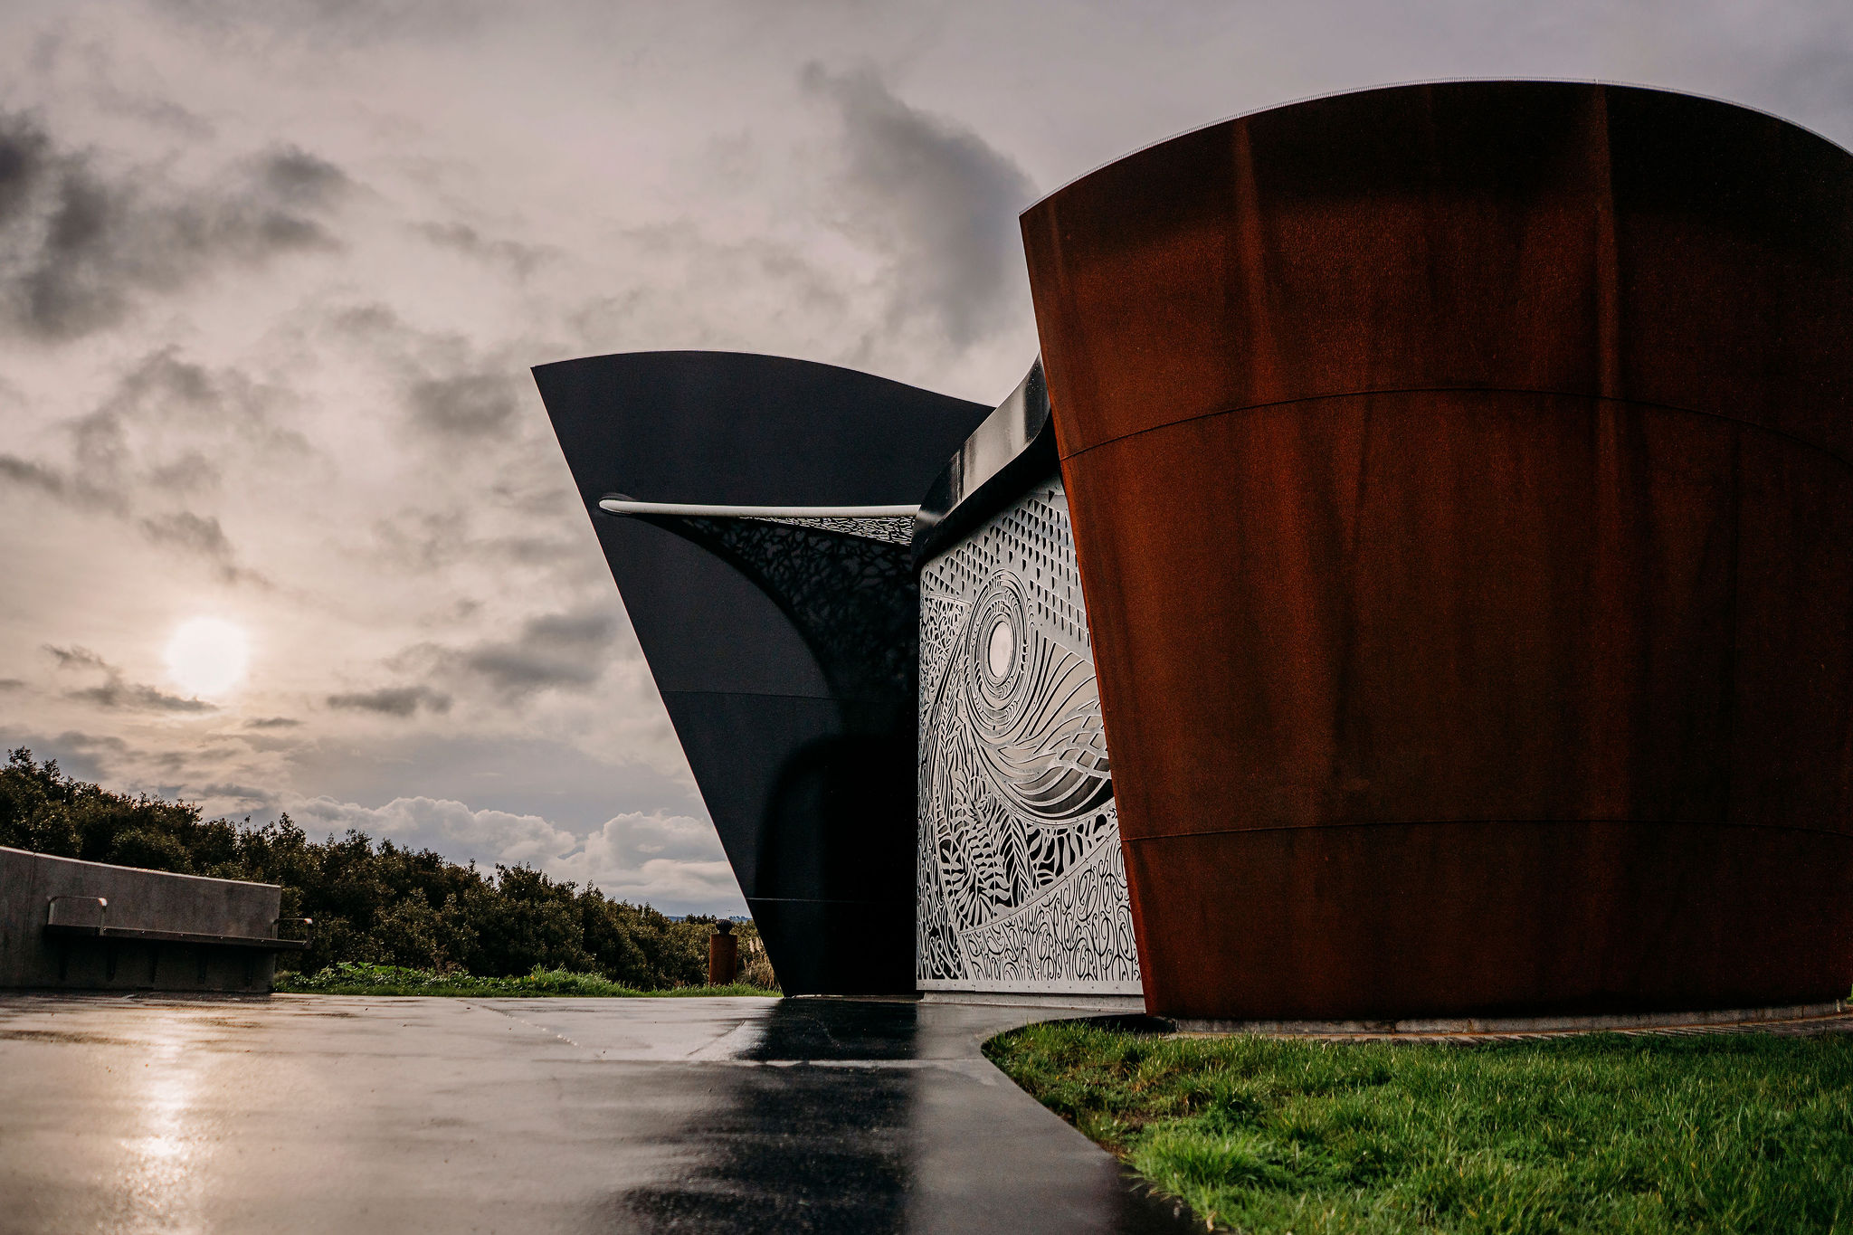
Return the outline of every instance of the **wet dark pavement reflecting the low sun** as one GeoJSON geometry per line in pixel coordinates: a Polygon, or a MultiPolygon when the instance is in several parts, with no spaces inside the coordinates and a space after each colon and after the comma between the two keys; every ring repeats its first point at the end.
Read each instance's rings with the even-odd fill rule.
{"type": "Polygon", "coordinates": [[[0,996],[0,1231],[1199,1229],[978,1050],[1051,1009],[0,996]]]}

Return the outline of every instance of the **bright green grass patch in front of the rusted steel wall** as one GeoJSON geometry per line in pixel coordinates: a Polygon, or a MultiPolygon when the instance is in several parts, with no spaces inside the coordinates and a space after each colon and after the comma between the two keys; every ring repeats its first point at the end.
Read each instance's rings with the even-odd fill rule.
{"type": "Polygon", "coordinates": [[[1853,1035],[984,1050],[1219,1229],[1853,1233],[1853,1035]]]}

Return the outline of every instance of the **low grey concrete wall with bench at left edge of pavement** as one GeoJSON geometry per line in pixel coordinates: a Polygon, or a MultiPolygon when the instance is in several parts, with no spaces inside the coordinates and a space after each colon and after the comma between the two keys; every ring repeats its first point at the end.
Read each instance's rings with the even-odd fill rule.
{"type": "MultiPolygon", "coordinates": [[[[269,952],[44,933],[54,896],[102,896],[111,928],[274,937],[284,889],[0,848],[0,987],[269,991],[269,952]]],[[[67,920],[95,922],[72,905],[67,920]]]]}

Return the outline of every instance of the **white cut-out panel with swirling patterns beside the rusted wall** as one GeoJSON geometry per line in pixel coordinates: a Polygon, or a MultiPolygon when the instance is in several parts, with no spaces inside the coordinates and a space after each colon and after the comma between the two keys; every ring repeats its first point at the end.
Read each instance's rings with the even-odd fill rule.
{"type": "Polygon", "coordinates": [[[1140,992],[1062,485],[921,572],[923,989],[1140,992]]]}

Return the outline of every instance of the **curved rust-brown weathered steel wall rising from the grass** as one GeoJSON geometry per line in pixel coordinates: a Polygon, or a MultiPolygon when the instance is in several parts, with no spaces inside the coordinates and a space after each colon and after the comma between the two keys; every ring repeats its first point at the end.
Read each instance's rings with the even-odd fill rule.
{"type": "Polygon", "coordinates": [[[1853,157],[1397,87],[1023,235],[1153,1011],[1846,996],[1853,157]]]}

